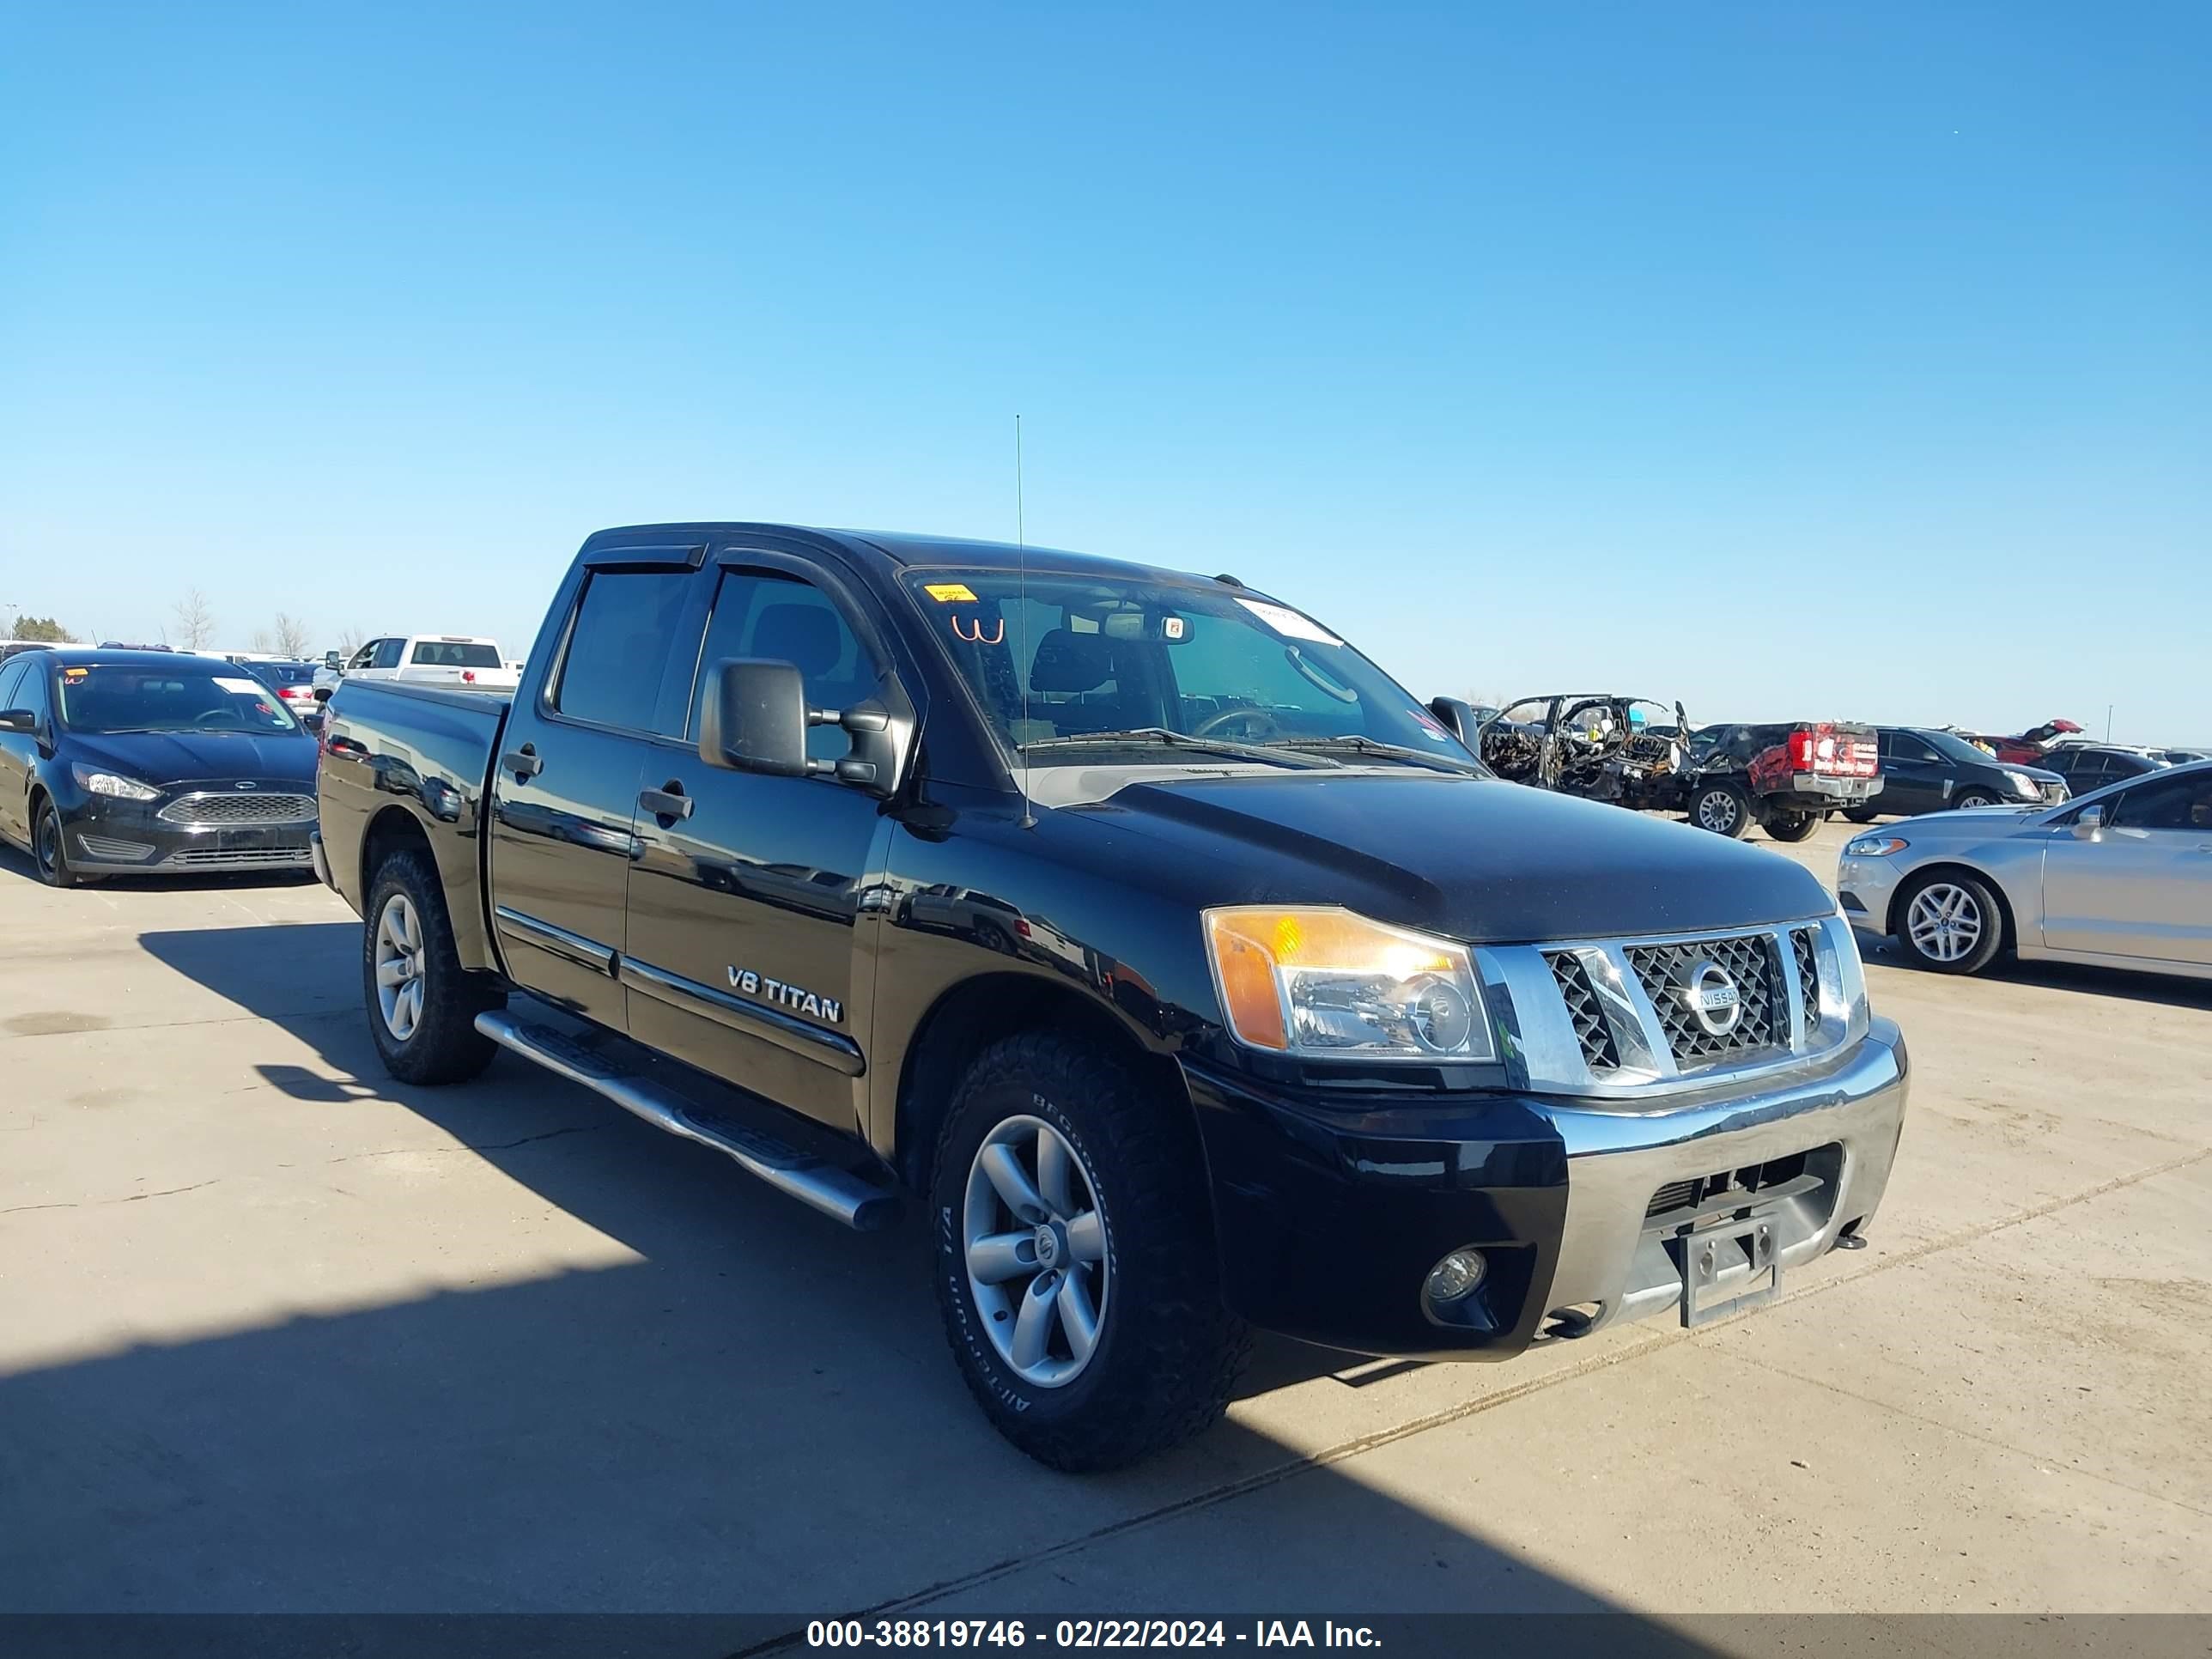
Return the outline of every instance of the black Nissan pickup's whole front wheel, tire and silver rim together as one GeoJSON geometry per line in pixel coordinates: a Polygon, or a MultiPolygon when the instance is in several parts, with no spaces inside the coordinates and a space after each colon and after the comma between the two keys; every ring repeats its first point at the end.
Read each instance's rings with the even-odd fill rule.
{"type": "Polygon", "coordinates": [[[938,1310],[991,1425],[1121,1469],[1217,1422],[1250,1352],[1221,1303],[1188,1108],[1053,1033],[978,1055],[931,1172],[938,1310]]]}

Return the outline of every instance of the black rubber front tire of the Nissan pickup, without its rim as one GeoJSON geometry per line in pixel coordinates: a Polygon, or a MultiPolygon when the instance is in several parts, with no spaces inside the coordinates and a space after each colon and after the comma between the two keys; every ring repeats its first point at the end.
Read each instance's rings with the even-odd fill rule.
{"type": "Polygon", "coordinates": [[[1102,1048],[1029,1031],[984,1048],[953,1091],[929,1177],[938,1310],[991,1425],[1068,1473],[1124,1469],[1212,1427],[1252,1352],[1221,1301],[1197,1126],[1102,1048]],[[1088,1365],[1033,1387],[1000,1358],[969,1285],[975,1150],[1009,1117],[1044,1119],[1082,1159],[1106,1223],[1110,1294],[1088,1365]]]}

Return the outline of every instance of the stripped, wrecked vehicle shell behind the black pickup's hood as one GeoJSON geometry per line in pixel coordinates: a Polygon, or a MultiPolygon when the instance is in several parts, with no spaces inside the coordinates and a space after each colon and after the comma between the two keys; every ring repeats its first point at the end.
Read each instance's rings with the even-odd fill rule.
{"type": "Polygon", "coordinates": [[[1513,703],[1478,730],[1473,748],[1509,783],[1637,812],[1679,812],[1686,730],[1681,703],[1564,692],[1513,703]]]}

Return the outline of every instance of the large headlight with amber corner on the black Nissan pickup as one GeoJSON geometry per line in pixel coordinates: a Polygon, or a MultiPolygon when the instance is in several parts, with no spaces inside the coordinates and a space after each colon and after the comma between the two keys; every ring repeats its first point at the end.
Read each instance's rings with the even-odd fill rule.
{"type": "Polygon", "coordinates": [[[1347,909],[1206,911],[1214,989],[1250,1048],[1347,1060],[1493,1060],[1464,945],[1347,909]]]}

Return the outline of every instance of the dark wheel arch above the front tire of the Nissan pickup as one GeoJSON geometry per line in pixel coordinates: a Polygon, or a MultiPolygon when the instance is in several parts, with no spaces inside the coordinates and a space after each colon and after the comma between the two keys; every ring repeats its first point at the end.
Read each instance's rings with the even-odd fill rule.
{"type": "Polygon", "coordinates": [[[947,987],[929,1004],[898,1066],[889,1152],[900,1181],[911,1190],[929,1186],[929,1152],[969,1062],[993,1042],[1022,1031],[1062,1031],[1093,1042],[1181,1110],[1194,1110],[1181,1066],[1148,1046],[1097,998],[1037,973],[978,973],[947,987]]]}

